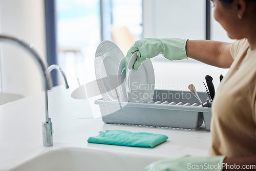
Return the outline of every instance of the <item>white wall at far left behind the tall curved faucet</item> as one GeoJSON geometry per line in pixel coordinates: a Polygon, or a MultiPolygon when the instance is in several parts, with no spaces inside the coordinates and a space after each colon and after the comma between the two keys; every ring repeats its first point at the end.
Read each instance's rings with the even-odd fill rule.
{"type": "MultiPolygon", "coordinates": [[[[46,60],[44,0],[1,0],[0,33],[22,37],[46,60]]],[[[41,76],[23,49],[1,44],[2,91],[24,96],[42,90],[41,76]]]]}

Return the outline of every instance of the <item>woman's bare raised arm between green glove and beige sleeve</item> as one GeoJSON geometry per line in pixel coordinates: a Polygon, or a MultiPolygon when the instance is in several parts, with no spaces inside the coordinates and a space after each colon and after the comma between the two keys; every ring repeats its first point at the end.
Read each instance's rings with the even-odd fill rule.
{"type": "Polygon", "coordinates": [[[187,57],[199,60],[211,66],[229,68],[233,62],[230,55],[230,43],[212,40],[187,40],[187,57]]]}

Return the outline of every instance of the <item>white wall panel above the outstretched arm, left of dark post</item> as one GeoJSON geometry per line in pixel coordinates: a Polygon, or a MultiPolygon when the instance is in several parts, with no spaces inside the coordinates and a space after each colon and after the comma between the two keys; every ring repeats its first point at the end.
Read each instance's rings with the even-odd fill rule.
{"type": "Polygon", "coordinates": [[[143,37],[205,38],[205,0],[144,0],[143,37]]]}

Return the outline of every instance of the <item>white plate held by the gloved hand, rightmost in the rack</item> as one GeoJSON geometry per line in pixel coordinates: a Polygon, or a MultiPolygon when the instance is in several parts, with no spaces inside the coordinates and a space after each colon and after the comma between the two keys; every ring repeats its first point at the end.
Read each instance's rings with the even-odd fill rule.
{"type": "Polygon", "coordinates": [[[154,68],[150,59],[141,63],[138,70],[133,69],[133,65],[138,54],[134,53],[129,60],[125,87],[129,102],[151,101],[155,91],[154,68]]]}

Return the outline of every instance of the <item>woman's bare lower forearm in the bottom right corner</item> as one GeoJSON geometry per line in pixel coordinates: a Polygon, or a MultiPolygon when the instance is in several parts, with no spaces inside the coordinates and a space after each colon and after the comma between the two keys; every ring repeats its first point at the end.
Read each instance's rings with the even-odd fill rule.
{"type": "Polygon", "coordinates": [[[231,170],[256,170],[256,156],[240,157],[240,158],[225,158],[223,160],[222,171],[231,170]],[[235,167],[236,166],[236,167],[235,167]]]}

